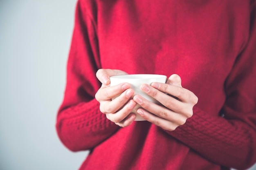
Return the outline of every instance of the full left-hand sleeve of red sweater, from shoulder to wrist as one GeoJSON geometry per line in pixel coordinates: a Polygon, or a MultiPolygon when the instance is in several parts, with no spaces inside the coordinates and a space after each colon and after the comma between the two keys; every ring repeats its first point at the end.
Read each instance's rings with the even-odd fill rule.
{"type": "Polygon", "coordinates": [[[76,5],[65,95],[56,121],[59,138],[72,151],[93,148],[118,129],[94,99],[101,84],[95,76],[100,68],[97,29],[88,12],[93,5],[80,0],[76,5]]]}

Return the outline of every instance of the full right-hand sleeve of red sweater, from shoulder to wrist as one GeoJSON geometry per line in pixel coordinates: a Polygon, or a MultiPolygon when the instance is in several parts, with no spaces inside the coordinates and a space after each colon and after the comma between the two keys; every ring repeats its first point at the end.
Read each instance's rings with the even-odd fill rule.
{"type": "Polygon", "coordinates": [[[236,169],[249,168],[256,162],[255,2],[249,40],[225,82],[227,97],[221,116],[214,117],[195,106],[186,124],[168,132],[210,161],[236,169]]]}

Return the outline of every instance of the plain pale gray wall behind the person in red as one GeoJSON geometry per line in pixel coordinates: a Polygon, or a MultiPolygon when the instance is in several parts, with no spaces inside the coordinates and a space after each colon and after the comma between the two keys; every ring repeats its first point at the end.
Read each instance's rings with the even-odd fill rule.
{"type": "Polygon", "coordinates": [[[0,170],[76,170],[88,154],[55,131],[75,4],[0,0],[0,170]]]}

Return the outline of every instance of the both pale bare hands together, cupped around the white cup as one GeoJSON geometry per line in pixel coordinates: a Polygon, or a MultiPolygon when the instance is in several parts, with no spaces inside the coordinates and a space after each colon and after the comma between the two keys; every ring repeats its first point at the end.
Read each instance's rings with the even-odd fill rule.
{"type": "Polygon", "coordinates": [[[137,104],[141,106],[137,109],[137,113],[141,117],[169,131],[185,124],[186,120],[193,115],[193,106],[197,104],[198,97],[181,86],[179,75],[171,75],[166,83],[153,82],[150,85],[141,85],[142,91],[162,104],[159,106],[140,95],[133,96],[134,91],[128,83],[110,87],[110,76],[124,74],[127,73],[111,69],[99,69],[96,73],[102,83],[95,95],[96,100],[100,103],[100,111],[118,126],[126,127],[132,124],[136,115],[131,111],[137,104]],[[112,100],[117,95],[119,97],[112,100]]]}

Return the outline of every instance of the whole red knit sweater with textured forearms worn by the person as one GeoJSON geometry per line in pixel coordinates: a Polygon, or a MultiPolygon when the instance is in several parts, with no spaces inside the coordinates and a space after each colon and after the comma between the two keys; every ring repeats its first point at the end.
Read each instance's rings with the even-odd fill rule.
{"type": "Polygon", "coordinates": [[[256,0],[79,0],[56,128],[81,170],[227,170],[256,161],[256,0]],[[169,132],[120,128],[94,99],[99,68],[180,75],[198,96],[169,132]]]}

